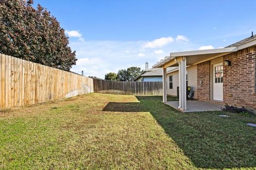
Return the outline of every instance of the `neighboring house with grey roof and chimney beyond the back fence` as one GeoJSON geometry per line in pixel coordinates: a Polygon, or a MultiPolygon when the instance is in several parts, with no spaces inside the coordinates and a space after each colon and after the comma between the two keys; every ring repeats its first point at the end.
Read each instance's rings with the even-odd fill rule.
{"type": "MultiPolygon", "coordinates": [[[[175,69],[175,68],[174,68],[175,69]]],[[[168,68],[167,71],[170,72],[173,68],[168,68]]],[[[163,69],[152,68],[148,69],[148,62],[145,64],[145,71],[143,71],[139,77],[134,81],[163,81],[163,69]]]]}

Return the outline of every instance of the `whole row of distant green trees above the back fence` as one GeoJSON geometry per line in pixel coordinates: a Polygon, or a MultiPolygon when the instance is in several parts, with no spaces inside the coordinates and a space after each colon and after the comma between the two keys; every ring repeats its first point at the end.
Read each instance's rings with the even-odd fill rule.
{"type": "Polygon", "coordinates": [[[105,80],[114,80],[114,81],[133,81],[135,78],[143,72],[140,67],[129,67],[127,69],[119,70],[116,73],[107,73],[105,74],[105,80]]]}

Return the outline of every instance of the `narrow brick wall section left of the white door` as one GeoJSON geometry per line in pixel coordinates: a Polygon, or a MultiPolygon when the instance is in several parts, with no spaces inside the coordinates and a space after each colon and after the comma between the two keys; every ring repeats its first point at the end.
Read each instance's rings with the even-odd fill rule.
{"type": "Polygon", "coordinates": [[[210,100],[210,94],[211,94],[210,78],[211,78],[210,61],[197,64],[197,98],[198,100],[201,100],[201,101],[210,100]]]}

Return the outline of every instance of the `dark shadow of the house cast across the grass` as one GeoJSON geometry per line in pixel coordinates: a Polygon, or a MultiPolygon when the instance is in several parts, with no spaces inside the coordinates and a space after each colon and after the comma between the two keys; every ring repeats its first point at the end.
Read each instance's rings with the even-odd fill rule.
{"type": "Polygon", "coordinates": [[[255,115],[183,114],[161,103],[161,96],[136,97],[140,102],[109,103],[103,111],[150,112],[198,168],[256,168],[256,129],[246,125],[256,123],[255,115]]]}

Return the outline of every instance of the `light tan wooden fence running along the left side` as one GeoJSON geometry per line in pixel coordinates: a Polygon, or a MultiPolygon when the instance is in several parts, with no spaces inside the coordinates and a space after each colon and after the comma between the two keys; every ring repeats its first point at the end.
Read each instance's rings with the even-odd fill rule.
{"type": "Polygon", "coordinates": [[[93,92],[93,80],[0,54],[0,89],[0,108],[10,108],[93,92]]]}

